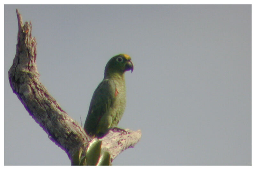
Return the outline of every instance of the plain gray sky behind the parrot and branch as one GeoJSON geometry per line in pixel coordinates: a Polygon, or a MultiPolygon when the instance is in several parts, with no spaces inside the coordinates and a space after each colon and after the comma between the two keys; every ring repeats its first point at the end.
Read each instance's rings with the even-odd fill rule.
{"type": "Polygon", "coordinates": [[[70,165],[12,93],[17,17],[31,21],[40,81],[84,124],[107,61],[126,53],[141,129],[113,165],[251,165],[251,5],[4,5],[4,165],[70,165]]]}

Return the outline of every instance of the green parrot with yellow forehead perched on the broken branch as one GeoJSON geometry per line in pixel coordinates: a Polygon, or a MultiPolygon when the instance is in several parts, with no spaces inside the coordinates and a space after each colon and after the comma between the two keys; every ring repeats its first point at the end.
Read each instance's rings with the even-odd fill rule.
{"type": "Polygon", "coordinates": [[[92,95],[84,130],[92,138],[103,137],[108,130],[124,131],[117,124],[124,114],[126,106],[126,88],[124,72],[132,70],[131,57],[118,54],[112,57],[100,82],[92,95]]]}

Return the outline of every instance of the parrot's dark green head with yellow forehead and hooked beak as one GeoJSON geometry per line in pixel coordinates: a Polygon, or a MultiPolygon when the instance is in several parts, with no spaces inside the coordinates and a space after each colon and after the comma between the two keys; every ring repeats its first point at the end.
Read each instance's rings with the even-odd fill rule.
{"type": "Polygon", "coordinates": [[[133,71],[131,57],[127,54],[118,54],[108,61],[105,67],[105,75],[109,73],[124,74],[125,71],[129,70],[133,71]]]}

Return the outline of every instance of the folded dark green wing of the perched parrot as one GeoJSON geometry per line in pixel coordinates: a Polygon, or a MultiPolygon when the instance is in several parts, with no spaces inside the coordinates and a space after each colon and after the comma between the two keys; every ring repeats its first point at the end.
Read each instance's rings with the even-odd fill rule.
{"type": "Polygon", "coordinates": [[[103,80],[94,91],[84,129],[88,134],[95,134],[100,118],[109,110],[115,100],[116,84],[113,80],[103,80]]]}

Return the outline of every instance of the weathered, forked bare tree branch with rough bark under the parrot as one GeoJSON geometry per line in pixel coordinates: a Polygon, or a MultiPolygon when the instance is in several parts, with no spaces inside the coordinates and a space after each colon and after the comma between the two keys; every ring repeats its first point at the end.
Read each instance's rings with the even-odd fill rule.
{"type": "MultiPolygon", "coordinates": [[[[61,109],[57,101],[48,93],[39,81],[40,74],[36,66],[36,39],[31,35],[31,22],[23,25],[21,15],[18,18],[18,43],[16,55],[8,75],[13,92],[20,99],[29,114],[49,135],[49,138],[60,146],[71,159],[80,147],[86,151],[92,140],[83,128],[61,109]]],[[[118,154],[139,142],[140,130],[110,132],[103,138],[102,149],[111,155],[111,162],[118,154]]]]}

